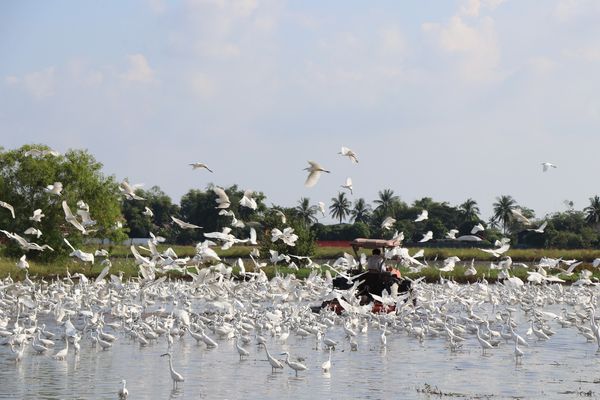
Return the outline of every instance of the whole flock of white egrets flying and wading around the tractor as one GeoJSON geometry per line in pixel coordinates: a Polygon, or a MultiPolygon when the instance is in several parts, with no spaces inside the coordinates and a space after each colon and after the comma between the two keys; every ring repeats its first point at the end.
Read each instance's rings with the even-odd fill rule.
{"type": "MultiPolygon", "coordinates": [[[[340,154],[358,163],[352,150],[342,148],[340,154]]],[[[192,166],[212,172],[203,163],[192,166]]],[[[307,186],[314,185],[321,172],[329,172],[315,162],[310,162],[307,169],[307,186]]],[[[352,190],[351,180],[344,187],[352,190]]],[[[46,188],[57,196],[62,189],[60,182],[46,188]]],[[[218,187],[214,190],[216,207],[231,216],[235,224],[235,216],[227,210],[230,205],[227,194],[218,187]]],[[[128,199],[143,200],[135,194],[135,185],[123,182],[121,191],[128,199]]],[[[6,203],[0,205],[12,209],[6,203]]],[[[244,194],[242,205],[256,208],[251,191],[244,194]]],[[[83,201],[78,203],[76,215],[66,202],[63,201],[62,206],[65,220],[81,233],[86,234],[94,225],[83,201]]],[[[323,209],[322,204],[320,208],[323,209]]],[[[148,214],[152,210],[146,207],[144,212],[148,214]]],[[[30,220],[35,222],[43,217],[42,210],[35,210],[30,220]]],[[[427,218],[424,210],[416,221],[427,218]]],[[[184,229],[199,228],[175,217],[172,219],[184,229]]],[[[384,223],[391,226],[393,221],[384,223]]],[[[284,215],[282,224],[285,224],[284,215]]],[[[281,240],[293,246],[297,240],[293,229],[282,228],[273,229],[273,242],[281,240]]],[[[538,229],[543,231],[543,227],[538,229]]],[[[3,232],[16,240],[24,251],[42,248],[16,233],[3,232]]],[[[195,342],[203,351],[235,351],[239,355],[239,368],[244,368],[244,360],[249,356],[261,360],[266,357],[265,373],[300,377],[307,370],[315,369],[322,370],[323,374],[335,374],[339,351],[360,354],[373,347],[385,349],[390,338],[410,341],[415,346],[435,340],[455,354],[469,348],[480,350],[486,357],[509,353],[519,365],[527,362],[528,347],[532,343],[538,347],[552,346],[552,336],[558,329],[564,329],[573,341],[589,342],[594,351],[596,348],[600,351],[597,286],[589,274],[582,275],[578,284],[562,285],[558,277],[553,278],[544,270],[557,268],[560,260],[555,260],[553,265],[549,265],[553,260],[541,261],[528,282],[510,276],[511,262],[506,259],[496,266],[505,273],[504,281],[498,284],[488,284],[485,279],[465,285],[443,279],[438,284],[417,280],[410,293],[392,290],[374,296],[386,306],[395,306],[391,313],[374,314],[371,306],[360,304],[356,296],[360,278],[351,282],[354,286],[350,289],[333,287],[330,269],[347,276],[345,271],[357,264],[351,256],[337,260],[330,268],[297,257],[313,268],[307,278],[277,275],[269,279],[261,270],[264,264],[256,260],[259,254],[253,252],[254,272],[246,272],[243,261],[238,260],[239,273],[234,274],[231,266],[223,263],[212,249],[216,244],[209,239],[218,241],[222,248],[237,243],[255,244],[256,232],[251,229],[247,239],[238,239],[230,232],[225,229],[205,234],[207,240],[198,244],[196,256],[185,259],[178,258],[172,249],[159,252],[161,238],[153,235],[148,247],[131,246],[140,273],[139,277],[128,280],[110,274],[107,252],[86,253],[65,239],[71,247],[71,256],[84,263],[93,263],[94,257],[104,257],[105,270],[94,280],[77,274],[54,280],[13,281],[9,277],[0,281],[0,358],[15,364],[28,357],[72,363],[82,352],[111,352],[115,342],[139,346],[142,353],[146,348],[158,347],[164,349],[162,356],[168,361],[163,362],[165,376],[168,368],[176,389],[190,378],[181,369],[178,371],[178,360],[173,352],[182,341],[195,342]],[[157,275],[171,269],[186,271],[187,279],[171,280],[157,275]],[[318,313],[311,308],[332,299],[343,305],[341,314],[327,307],[318,313]],[[379,340],[367,343],[365,349],[364,340],[357,338],[370,330],[380,332],[375,336],[379,340]],[[305,339],[306,351],[302,353],[309,356],[298,359],[297,354],[290,354],[286,346],[290,336],[305,339]]],[[[395,235],[396,239],[399,236],[395,235]]],[[[507,250],[508,243],[500,242],[489,252],[500,257],[507,250]]],[[[415,270],[423,267],[417,260],[422,254],[410,256],[401,247],[386,252],[386,256],[399,258],[415,270]]],[[[290,262],[289,255],[271,252],[271,261],[283,259],[290,262]]],[[[451,271],[458,261],[457,257],[444,260],[440,269],[451,271]]],[[[562,273],[573,273],[573,264],[567,264],[569,269],[562,273]]],[[[18,265],[27,269],[25,256],[18,265]]],[[[347,279],[352,281],[349,276],[347,279]]],[[[155,361],[160,362],[152,362],[155,361]]],[[[114,393],[119,398],[127,398],[129,394],[126,385],[131,378],[125,375],[115,382],[114,393]]]]}

